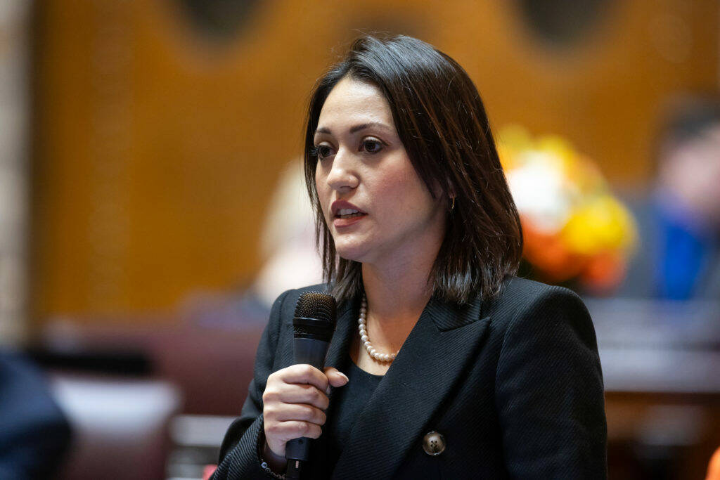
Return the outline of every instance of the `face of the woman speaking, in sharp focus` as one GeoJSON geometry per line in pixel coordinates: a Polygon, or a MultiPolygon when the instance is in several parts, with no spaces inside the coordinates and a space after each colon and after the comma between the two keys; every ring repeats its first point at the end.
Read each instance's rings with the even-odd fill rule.
{"type": "Polygon", "coordinates": [[[436,255],[446,203],[415,173],[377,87],[339,81],[320,112],[315,148],[318,198],[338,255],[378,264],[436,255]]]}

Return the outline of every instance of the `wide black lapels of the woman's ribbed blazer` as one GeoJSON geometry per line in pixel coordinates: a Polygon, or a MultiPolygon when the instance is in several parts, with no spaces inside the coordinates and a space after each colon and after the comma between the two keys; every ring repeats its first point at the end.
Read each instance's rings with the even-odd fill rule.
{"type": "MultiPolygon", "coordinates": [[[[428,302],[360,412],[333,478],[382,479],[395,473],[477,350],[489,321],[480,318],[481,303],[456,307],[434,297],[428,302]]],[[[332,360],[347,355],[355,325],[347,323],[338,322],[336,336],[343,345],[330,347],[332,360]]]]}

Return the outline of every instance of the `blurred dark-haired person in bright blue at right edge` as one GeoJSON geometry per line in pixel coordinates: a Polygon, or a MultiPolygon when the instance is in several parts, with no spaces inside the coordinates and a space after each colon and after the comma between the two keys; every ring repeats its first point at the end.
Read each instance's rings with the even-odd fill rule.
{"type": "Polygon", "coordinates": [[[683,97],[672,106],[657,140],[657,178],[634,210],[640,248],[621,294],[719,299],[719,99],[683,97]]]}

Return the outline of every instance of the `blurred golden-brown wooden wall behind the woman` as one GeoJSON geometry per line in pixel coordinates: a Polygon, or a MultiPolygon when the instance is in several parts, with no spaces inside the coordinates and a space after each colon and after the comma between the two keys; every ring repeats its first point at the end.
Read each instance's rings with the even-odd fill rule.
{"type": "Polygon", "coordinates": [[[598,7],[580,33],[529,20],[519,0],[246,1],[215,24],[201,4],[36,2],[36,326],[145,322],[194,290],[251,281],[310,89],[360,32],[431,42],[464,65],[495,127],[564,135],[617,186],[647,182],[668,98],[719,85],[716,0],[580,2],[598,7]]]}

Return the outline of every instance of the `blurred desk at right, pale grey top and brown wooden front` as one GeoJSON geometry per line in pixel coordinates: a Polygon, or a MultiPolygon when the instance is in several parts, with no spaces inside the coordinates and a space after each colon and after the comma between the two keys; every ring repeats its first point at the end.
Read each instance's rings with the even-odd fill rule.
{"type": "Polygon", "coordinates": [[[720,301],[585,304],[603,366],[608,476],[703,478],[720,442],[720,301]]]}

